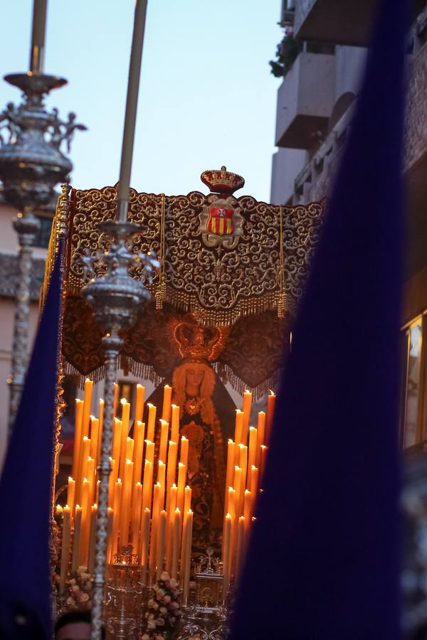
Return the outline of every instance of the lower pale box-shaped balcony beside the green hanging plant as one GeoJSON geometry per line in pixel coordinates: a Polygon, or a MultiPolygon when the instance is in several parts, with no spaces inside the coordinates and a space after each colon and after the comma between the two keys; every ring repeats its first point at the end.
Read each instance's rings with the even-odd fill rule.
{"type": "Polygon", "coordinates": [[[335,58],[302,51],[278,90],[275,144],[311,149],[326,132],[334,106],[335,58]]]}

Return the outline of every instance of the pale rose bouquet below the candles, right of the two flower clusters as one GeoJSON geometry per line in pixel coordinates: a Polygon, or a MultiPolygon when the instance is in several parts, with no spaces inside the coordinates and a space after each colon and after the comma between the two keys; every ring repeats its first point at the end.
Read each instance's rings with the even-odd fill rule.
{"type": "Polygon", "coordinates": [[[178,582],[164,571],[153,587],[147,602],[147,627],[142,640],[164,640],[164,633],[174,631],[181,619],[181,590],[178,582]]]}

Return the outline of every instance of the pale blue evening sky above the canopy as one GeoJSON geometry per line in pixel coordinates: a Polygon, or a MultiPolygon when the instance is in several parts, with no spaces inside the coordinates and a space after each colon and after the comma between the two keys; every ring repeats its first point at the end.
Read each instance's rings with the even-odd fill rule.
{"type": "MultiPolygon", "coordinates": [[[[46,73],[69,84],[48,105],[72,110],[88,132],[73,142],[73,186],[118,178],[132,0],[49,0],[46,73]]],[[[31,0],[5,4],[0,72],[26,71],[31,0]]],[[[268,60],[282,37],[280,0],[149,0],[132,186],[154,193],[206,191],[204,169],[226,164],[240,192],[270,199],[276,92],[268,60]]],[[[0,108],[19,92],[0,81],[0,108]]]]}

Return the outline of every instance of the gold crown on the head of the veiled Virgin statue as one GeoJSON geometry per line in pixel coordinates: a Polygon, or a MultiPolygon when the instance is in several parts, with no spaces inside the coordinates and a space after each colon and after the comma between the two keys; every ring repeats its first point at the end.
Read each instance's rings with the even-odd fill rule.
{"type": "Polygon", "coordinates": [[[215,361],[230,333],[227,326],[201,326],[194,314],[172,319],[169,330],[179,355],[188,361],[215,361]]]}

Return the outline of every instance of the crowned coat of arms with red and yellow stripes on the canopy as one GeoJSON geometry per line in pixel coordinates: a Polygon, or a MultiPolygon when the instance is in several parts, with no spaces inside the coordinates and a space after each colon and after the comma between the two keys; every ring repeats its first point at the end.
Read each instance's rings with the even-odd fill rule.
{"type": "Polygon", "coordinates": [[[242,188],[245,181],[225,166],[220,171],[204,171],[200,177],[212,192],[200,214],[202,239],[208,247],[223,245],[232,249],[243,233],[243,218],[232,193],[242,188]]]}

